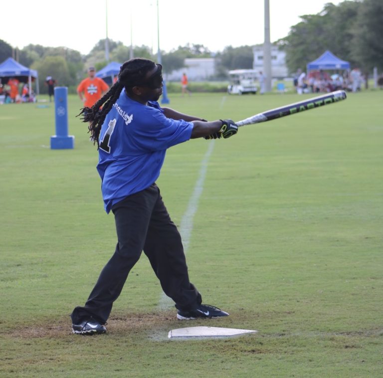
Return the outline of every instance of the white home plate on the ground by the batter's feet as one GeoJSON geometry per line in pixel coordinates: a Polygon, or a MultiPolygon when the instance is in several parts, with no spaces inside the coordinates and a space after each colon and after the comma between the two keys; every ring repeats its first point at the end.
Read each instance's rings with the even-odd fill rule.
{"type": "Polygon", "coordinates": [[[169,339],[192,338],[192,337],[232,337],[250,333],[256,333],[254,330],[241,330],[237,328],[220,328],[220,327],[187,327],[171,330],[168,333],[169,339]]]}

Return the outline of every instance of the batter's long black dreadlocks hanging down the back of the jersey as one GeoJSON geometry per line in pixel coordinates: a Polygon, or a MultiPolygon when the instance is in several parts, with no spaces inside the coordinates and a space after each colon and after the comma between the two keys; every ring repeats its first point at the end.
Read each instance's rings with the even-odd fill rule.
{"type": "Polygon", "coordinates": [[[137,85],[137,83],[142,82],[146,74],[155,66],[155,62],[145,58],[127,60],[120,67],[118,80],[113,84],[109,91],[105,93],[105,95],[91,108],[84,107],[81,109],[81,112],[77,115],[77,117],[82,116],[82,122],[90,123],[88,132],[91,134],[90,139],[93,141],[93,144],[97,143],[97,150],[100,148],[98,138],[100,136],[101,127],[105,121],[105,117],[119,98],[122,89],[125,88],[128,94],[133,94],[132,88],[137,85]]]}

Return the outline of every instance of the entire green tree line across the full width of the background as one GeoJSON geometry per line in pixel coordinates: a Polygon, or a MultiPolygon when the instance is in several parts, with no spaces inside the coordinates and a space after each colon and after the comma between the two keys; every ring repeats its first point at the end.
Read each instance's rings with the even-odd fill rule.
{"type": "MultiPolygon", "coordinates": [[[[338,5],[327,3],[318,14],[300,16],[301,21],[291,26],[289,34],[275,44],[286,52],[286,64],[291,73],[306,64],[325,50],[332,51],[352,66],[359,66],[365,73],[373,67],[383,70],[383,1],[346,0],[338,5]]],[[[122,42],[108,40],[109,57],[112,61],[124,62],[131,56],[130,46],[122,42]]],[[[227,71],[238,68],[252,68],[253,46],[227,46],[222,51],[212,53],[202,44],[179,46],[170,52],[162,51],[165,74],[184,67],[185,58],[214,56],[216,75],[214,79],[226,79],[227,71]]],[[[0,40],[0,62],[12,56],[14,49],[6,41],[0,40]]],[[[46,76],[53,76],[59,85],[68,86],[73,92],[78,82],[84,78],[88,65],[103,68],[105,60],[105,39],[101,39],[87,55],[67,47],[44,47],[29,44],[18,51],[18,61],[39,73],[40,91],[46,76]]],[[[134,46],[133,56],[157,60],[148,46],[134,46]]],[[[213,79],[213,78],[211,78],[213,79]]]]}

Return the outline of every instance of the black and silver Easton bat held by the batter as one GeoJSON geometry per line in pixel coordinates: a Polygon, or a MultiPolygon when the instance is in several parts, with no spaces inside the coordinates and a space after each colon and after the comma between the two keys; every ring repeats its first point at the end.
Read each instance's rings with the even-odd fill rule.
{"type": "Polygon", "coordinates": [[[281,106],[280,108],[275,108],[263,113],[255,114],[254,116],[251,116],[249,118],[235,123],[237,124],[237,126],[245,126],[254,123],[271,121],[276,118],[289,116],[290,114],[300,113],[304,110],[310,110],[327,104],[332,104],[333,102],[345,100],[346,97],[347,96],[345,91],[335,91],[321,96],[310,98],[309,100],[298,101],[294,104],[281,106]]]}

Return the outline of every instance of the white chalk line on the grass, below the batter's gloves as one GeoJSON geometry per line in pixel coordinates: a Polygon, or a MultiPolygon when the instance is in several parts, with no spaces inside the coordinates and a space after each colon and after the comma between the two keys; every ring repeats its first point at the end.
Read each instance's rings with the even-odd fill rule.
{"type": "MultiPolygon", "coordinates": [[[[188,208],[186,209],[184,215],[182,216],[179,231],[182,237],[182,244],[184,245],[184,252],[186,254],[190,239],[192,237],[193,230],[193,218],[195,213],[197,212],[199,197],[203,191],[203,184],[205,182],[206,171],[207,171],[207,163],[210,159],[211,153],[214,148],[214,140],[210,141],[209,147],[205,153],[201,161],[201,168],[199,170],[199,176],[195,183],[194,190],[192,196],[189,199],[188,208]]],[[[160,310],[169,309],[174,305],[174,302],[171,298],[169,298],[164,292],[161,295],[160,302],[158,304],[158,308],[160,310]]]]}

